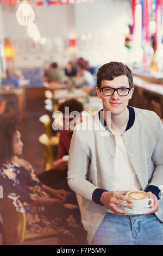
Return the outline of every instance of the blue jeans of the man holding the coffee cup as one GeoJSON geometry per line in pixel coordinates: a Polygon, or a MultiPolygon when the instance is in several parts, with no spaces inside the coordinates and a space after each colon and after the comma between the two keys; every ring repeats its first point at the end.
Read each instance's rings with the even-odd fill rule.
{"type": "Polygon", "coordinates": [[[106,213],[92,245],[163,245],[163,223],[154,215],[106,213]]]}

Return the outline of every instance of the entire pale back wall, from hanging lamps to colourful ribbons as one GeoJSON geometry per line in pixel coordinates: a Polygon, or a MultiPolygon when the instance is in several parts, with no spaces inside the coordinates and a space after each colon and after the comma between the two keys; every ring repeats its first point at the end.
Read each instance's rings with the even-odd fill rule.
{"type": "MultiPolygon", "coordinates": [[[[92,3],[69,5],[33,6],[35,23],[41,36],[49,38],[49,46],[31,53],[31,39],[26,28],[18,25],[16,8],[3,7],[4,35],[14,42],[22,41],[27,49],[14,58],[16,68],[43,67],[56,61],[64,66],[68,60],[83,57],[92,65],[101,65],[110,60],[127,60],[124,47],[124,27],[131,15],[129,0],[95,0],[92,3]],[[81,40],[82,34],[91,34],[92,39],[81,40]],[[77,51],[68,46],[70,38],[78,39],[77,51]],[[61,39],[64,46],[54,46],[54,40],[61,39]],[[48,50],[49,49],[49,50],[48,50]]],[[[1,13],[0,13],[1,14],[1,13]]],[[[1,26],[1,22],[0,22],[1,26]]],[[[1,29],[1,27],[0,27],[1,29]]]]}

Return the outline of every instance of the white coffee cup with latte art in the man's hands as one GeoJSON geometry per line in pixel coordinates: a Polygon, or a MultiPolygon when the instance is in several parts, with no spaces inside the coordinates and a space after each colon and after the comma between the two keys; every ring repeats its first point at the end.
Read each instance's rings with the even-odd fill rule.
{"type": "Polygon", "coordinates": [[[126,197],[129,197],[131,200],[133,200],[131,203],[134,205],[131,207],[133,210],[142,210],[143,208],[153,206],[154,203],[152,198],[148,198],[148,193],[141,190],[129,191],[126,194],[126,197]],[[150,201],[152,202],[151,204],[149,204],[150,201]]]}

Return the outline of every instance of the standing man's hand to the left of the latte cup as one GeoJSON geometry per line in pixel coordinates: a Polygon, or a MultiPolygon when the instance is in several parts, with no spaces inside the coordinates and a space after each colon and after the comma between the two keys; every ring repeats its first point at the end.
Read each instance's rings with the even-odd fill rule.
{"type": "Polygon", "coordinates": [[[116,215],[125,215],[130,214],[130,212],[122,210],[117,207],[119,206],[126,206],[132,207],[133,205],[132,200],[126,197],[126,193],[128,191],[107,191],[103,192],[101,196],[101,203],[106,206],[110,211],[114,212],[116,215]],[[126,202],[123,202],[126,201],[126,202]]]}

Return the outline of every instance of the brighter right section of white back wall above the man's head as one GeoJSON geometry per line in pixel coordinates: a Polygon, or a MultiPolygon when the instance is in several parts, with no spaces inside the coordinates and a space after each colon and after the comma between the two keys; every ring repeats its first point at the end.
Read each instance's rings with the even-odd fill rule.
{"type": "Polygon", "coordinates": [[[130,1],[77,4],[75,15],[78,36],[92,35],[92,39],[78,40],[78,56],[90,60],[92,65],[127,61],[124,28],[131,16],[130,1]]]}

